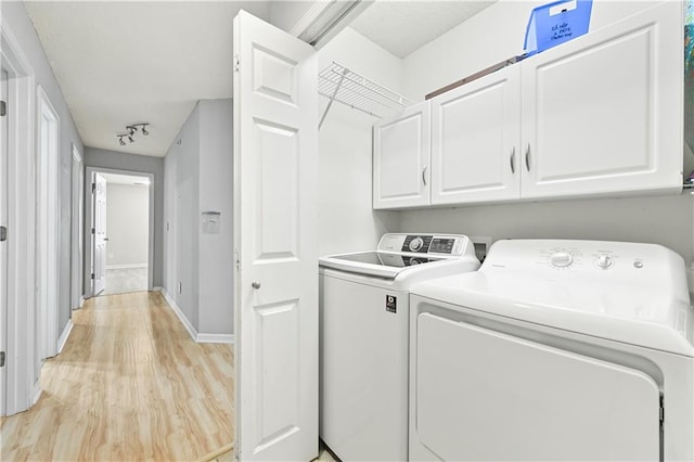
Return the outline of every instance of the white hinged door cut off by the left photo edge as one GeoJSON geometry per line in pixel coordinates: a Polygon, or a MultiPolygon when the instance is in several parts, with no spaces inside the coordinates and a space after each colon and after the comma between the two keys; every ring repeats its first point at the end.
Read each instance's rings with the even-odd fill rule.
{"type": "MultiPolygon", "coordinates": [[[[0,355],[8,351],[8,124],[7,115],[8,101],[8,79],[9,75],[4,69],[0,69],[0,355]]],[[[7,408],[7,370],[4,362],[7,358],[0,359],[0,415],[5,415],[7,408]]]]}

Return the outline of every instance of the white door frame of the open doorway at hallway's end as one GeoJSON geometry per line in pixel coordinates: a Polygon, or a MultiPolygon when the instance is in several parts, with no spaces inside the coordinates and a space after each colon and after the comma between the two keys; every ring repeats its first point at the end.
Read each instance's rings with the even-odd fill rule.
{"type": "MultiPolygon", "coordinates": [[[[116,175],[129,175],[132,177],[142,177],[147,178],[150,180],[150,187],[147,188],[149,192],[149,201],[150,201],[150,209],[147,210],[150,215],[149,220],[149,229],[147,229],[147,291],[154,290],[154,174],[147,171],[138,171],[138,170],[121,170],[116,168],[105,168],[105,167],[91,167],[87,166],[85,170],[85,239],[83,239],[83,255],[85,255],[85,266],[83,266],[83,287],[85,287],[85,298],[91,298],[94,296],[94,287],[91,281],[91,273],[93,271],[93,240],[91,238],[91,229],[93,228],[93,219],[94,219],[94,195],[91,190],[91,184],[93,183],[94,174],[116,174],[116,175]]],[[[107,222],[107,221],[106,221],[107,222]]]]}

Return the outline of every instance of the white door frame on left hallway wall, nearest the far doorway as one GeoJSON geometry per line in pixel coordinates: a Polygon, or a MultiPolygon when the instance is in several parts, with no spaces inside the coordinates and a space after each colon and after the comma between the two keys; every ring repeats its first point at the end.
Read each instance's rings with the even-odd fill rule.
{"type": "Polygon", "coordinates": [[[77,144],[73,143],[72,165],[72,236],[70,236],[70,305],[73,309],[81,308],[85,304],[85,291],[82,287],[82,260],[85,227],[85,164],[77,144]]]}

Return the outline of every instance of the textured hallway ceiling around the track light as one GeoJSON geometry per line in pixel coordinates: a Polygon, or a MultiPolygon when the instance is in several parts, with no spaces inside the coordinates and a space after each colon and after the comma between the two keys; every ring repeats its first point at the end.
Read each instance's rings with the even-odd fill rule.
{"type": "MultiPolygon", "coordinates": [[[[197,100],[231,98],[232,20],[265,1],[27,1],[87,146],[164,156],[197,100]],[[149,137],[118,144],[129,124],[149,137]]],[[[230,127],[231,129],[231,127],[230,127]]]]}

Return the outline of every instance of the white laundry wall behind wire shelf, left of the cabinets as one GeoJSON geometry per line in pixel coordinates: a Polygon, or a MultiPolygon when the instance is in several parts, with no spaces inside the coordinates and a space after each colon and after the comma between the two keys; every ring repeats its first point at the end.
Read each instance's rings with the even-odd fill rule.
{"type": "MultiPolygon", "coordinates": [[[[402,60],[351,28],[319,51],[319,68],[332,62],[399,91],[402,60]]],[[[327,99],[319,101],[320,114],[327,99]]],[[[319,132],[319,255],[373,246],[399,230],[397,211],[372,209],[372,126],[377,118],[343,104],[331,106],[319,132]]]]}

